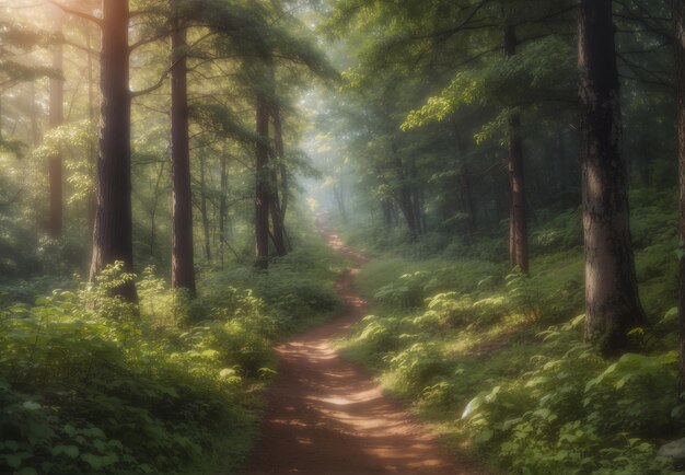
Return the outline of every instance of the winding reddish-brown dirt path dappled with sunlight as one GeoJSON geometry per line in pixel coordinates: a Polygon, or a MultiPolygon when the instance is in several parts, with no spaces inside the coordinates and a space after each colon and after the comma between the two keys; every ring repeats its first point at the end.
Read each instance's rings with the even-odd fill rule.
{"type": "MultiPolygon", "coordinates": [[[[324,236],[359,266],[368,260],[334,233],[324,236]]],[[[358,271],[344,273],[336,285],[345,302],[338,318],[277,347],[279,374],[245,475],[485,473],[451,460],[368,373],[336,354],[333,340],[367,308],[355,290],[358,271]]]]}

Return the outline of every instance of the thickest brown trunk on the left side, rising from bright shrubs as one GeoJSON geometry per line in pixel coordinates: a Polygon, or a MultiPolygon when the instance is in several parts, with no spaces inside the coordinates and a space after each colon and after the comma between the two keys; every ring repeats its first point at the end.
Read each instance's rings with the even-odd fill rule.
{"type": "MultiPolygon", "coordinates": [[[[97,157],[97,212],[93,231],[91,280],[109,264],[133,270],[128,0],[102,2],[101,121],[97,157]]],[[[129,301],[132,281],[116,290],[129,301]]]]}

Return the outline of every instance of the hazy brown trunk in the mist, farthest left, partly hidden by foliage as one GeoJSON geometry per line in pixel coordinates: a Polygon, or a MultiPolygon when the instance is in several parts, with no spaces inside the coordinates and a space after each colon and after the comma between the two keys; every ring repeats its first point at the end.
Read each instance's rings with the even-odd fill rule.
{"type": "MultiPolygon", "coordinates": [[[[62,30],[61,13],[55,21],[56,32],[59,34],[62,30]]],[[[53,51],[53,69],[63,73],[65,51],[61,43],[54,46],[53,51]]],[[[49,127],[51,129],[61,127],[65,123],[65,79],[50,79],[50,114],[49,127]]],[[[57,239],[62,234],[62,155],[57,152],[48,159],[48,182],[50,187],[50,211],[48,219],[48,233],[51,238],[57,239]]]]}

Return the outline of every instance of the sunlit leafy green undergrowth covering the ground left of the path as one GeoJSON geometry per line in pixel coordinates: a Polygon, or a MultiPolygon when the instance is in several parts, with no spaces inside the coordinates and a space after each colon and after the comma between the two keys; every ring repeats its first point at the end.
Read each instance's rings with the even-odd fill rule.
{"type": "MultiPolygon", "coordinates": [[[[190,300],[148,268],[140,305],[95,286],[0,310],[0,473],[231,473],[251,449],[274,341],[338,304],[344,265],[316,240],[268,274],[205,275],[190,300]]],[[[9,303],[13,302],[13,303],[9,303]]]]}

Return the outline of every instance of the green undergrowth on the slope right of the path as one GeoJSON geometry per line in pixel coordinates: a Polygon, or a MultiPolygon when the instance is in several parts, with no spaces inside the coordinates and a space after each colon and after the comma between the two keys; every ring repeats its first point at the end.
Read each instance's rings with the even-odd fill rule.
{"type": "Polygon", "coordinates": [[[605,360],[582,341],[577,211],[535,227],[530,276],[495,264],[499,251],[488,243],[461,257],[444,248],[429,259],[416,258],[423,248],[379,257],[358,279],[372,314],[342,349],[457,450],[512,473],[672,472],[657,450],[685,427],[672,309],[676,228],[662,211],[673,209],[670,195],[643,195],[634,230],[651,327],[632,335],[640,354],[605,360]]]}

